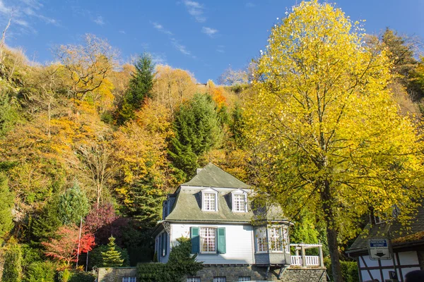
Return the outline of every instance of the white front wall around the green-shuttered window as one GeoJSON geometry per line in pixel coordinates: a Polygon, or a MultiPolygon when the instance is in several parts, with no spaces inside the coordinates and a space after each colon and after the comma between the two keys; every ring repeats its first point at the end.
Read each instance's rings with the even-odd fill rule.
{"type": "MultiPolygon", "coordinates": [[[[197,255],[204,264],[254,264],[253,226],[223,224],[171,224],[171,243],[177,244],[177,238],[190,237],[190,227],[225,227],[226,253],[197,255]]],[[[167,260],[167,257],[166,257],[167,260]]],[[[165,262],[165,261],[163,261],[165,262]]]]}

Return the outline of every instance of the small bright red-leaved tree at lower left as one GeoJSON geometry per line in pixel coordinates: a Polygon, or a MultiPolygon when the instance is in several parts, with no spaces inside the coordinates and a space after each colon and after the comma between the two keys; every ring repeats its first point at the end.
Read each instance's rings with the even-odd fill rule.
{"type": "Polygon", "coordinates": [[[82,252],[89,252],[95,245],[94,235],[83,228],[78,252],[78,238],[79,228],[76,225],[61,226],[54,234],[54,238],[42,243],[46,249],[45,255],[63,262],[66,268],[69,267],[72,262],[76,262],[77,255],[81,255],[82,252]]]}

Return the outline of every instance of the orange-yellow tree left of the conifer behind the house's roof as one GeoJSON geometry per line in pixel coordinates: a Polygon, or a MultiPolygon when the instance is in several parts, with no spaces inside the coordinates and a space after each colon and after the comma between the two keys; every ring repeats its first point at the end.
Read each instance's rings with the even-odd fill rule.
{"type": "Polygon", "coordinates": [[[128,214],[136,216],[141,211],[140,206],[145,204],[137,202],[141,195],[162,199],[177,185],[167,159],[171,125],[170,110],[147,100],[136,119],[114,133],[113,159],[118,170],[115,190],[128,214]]]}

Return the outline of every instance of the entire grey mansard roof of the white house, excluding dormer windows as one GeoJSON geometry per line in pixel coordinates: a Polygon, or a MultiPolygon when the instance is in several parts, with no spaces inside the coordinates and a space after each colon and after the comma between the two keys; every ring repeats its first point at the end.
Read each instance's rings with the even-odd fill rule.
{"type": "Polygon", "coordinates": [[[214,164],[208,164],[192,180],[182,184],[177,191],[175,203],[166,221],[196,221],[196,222],[234,222],[249,223],[252,219],[261,221],[285,221],[283,212],[278,207],[271,209],[252,209],[248,200],[248,212],[232,212],[231,192],[245,189],[249,193],[249,185],[242,183],[230,173],[226,173],[214,164]],[[188,186],[188,187],[187,187],[188,186]],[[218,191],[218,212],[201,210],[201,190],[213,188],[218,191]],[[218,189],[217,189],[218,188],[218,189]],[[219,189],[232,188],[232,189],[219,189]]]}

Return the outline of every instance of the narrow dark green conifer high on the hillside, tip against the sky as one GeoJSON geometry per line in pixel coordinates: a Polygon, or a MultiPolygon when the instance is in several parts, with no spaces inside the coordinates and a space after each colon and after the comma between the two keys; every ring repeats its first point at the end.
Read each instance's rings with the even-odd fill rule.
{"type": "Polygon", "coordinates": [[[139,56],[136,63],[135,73],[129,81],[129,88],[125,93],[124,101],[119,106],[118,123],[124,124],[126,121],[134,119],[135,112],[141,108],[144,99],[151,97],[155,64],[148,53],[139,56]]]}

